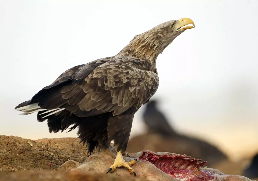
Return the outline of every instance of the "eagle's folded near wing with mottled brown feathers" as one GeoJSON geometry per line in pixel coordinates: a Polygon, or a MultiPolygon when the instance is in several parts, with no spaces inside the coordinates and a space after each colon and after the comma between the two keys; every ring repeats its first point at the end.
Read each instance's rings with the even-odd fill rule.
{"type": "Polygon", "coordinates": [[[39,105],[44,109],[64,108],[79,117],[106,112],[119,115],[131,107],[137,110],[156,92],[159,82],[156,73],[143,69],[147,63],[137,60],[127,57],[109,60],[87,76],[83,76],[83,72],[88,72],[87,64],[74,73],[65,72],[52,84],[59,85],[65,74],[70,74],[71,83],[48,93],[39,105]]]}

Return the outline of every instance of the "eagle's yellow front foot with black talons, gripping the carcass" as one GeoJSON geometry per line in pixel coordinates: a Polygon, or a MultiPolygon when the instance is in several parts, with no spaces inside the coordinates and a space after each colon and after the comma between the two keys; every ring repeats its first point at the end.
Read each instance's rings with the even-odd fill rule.
{"type": "Polygon", "coordinates": [[[125,162],[122,156],[122,152],[118,151],[116,154],[116,159],[113,165],[110,166],[110,169],[108,169],[107,173],[114,172],[116,168],[124,167],[128,169],[128,171],[131,174],[134,174],[136,177],[135,171],[131,168],[132,165],[134,165],[137,162],[137,159],[133,159],[131,162],[125,162]]]}

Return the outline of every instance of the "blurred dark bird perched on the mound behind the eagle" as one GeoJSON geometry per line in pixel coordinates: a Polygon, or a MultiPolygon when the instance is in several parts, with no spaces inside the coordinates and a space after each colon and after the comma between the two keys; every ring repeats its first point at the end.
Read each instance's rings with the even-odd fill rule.
{"type": "Polygon", "coordinates": [[[165,137],[176,136],[177,134],[167,121],[165,115],[158,110],[156,105],[156,100],[149,101],[143,113],[143,120],[148,125],[149,131],[165,137]]]}

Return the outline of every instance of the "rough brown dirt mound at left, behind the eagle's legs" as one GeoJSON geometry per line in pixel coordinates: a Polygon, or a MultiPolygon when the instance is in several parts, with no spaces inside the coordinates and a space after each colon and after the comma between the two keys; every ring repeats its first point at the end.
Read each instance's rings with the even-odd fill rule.
{"type": "Polygon", "coordinates": [[[0,173],[56,170],[68,160],[82,163],[85,147],[77,138],[29,140],[0,135],[0,173]]]}

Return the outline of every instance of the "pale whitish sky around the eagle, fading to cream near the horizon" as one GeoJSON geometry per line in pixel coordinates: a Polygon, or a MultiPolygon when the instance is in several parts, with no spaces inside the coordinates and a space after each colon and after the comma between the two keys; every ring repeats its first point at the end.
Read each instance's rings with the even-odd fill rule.
{"type": "MultiPolygon", "coordinates": [[[[234,158],[258,151],[258,1],[0,0],[0,134],[48,133],[12,111],[76,65],[117,54],[135,35],[180,18],[186,30],[157,59],[161,110],[173,126],[234,158]]],[[[143,131],[137,112],[131,136],[143,131]]]]}

